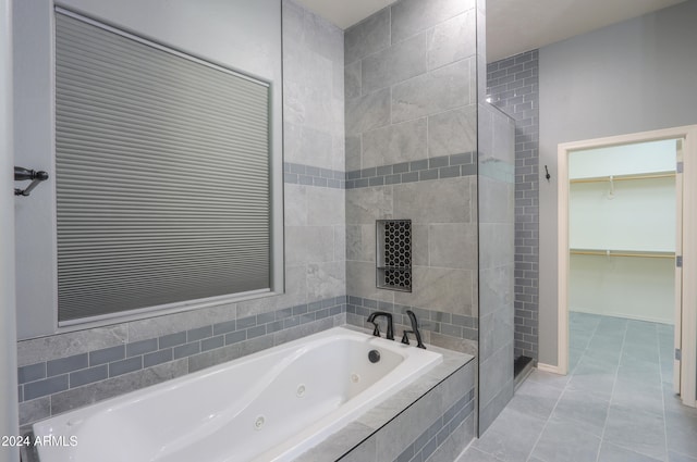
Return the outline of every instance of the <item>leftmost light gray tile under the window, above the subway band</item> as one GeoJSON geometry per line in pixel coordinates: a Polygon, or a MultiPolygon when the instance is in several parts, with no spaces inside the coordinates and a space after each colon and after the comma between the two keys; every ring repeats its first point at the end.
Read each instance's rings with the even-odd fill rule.
{"type": "Polygon", "coordinates": [[[17,341],[17,366],[36,364],[129,341],[125,323],[17,341]]]}

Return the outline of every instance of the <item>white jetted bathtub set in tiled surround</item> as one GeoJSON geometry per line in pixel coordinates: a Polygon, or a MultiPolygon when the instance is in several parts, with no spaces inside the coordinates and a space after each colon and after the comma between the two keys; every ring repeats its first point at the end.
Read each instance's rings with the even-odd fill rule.
{"type": "Polygon", "coordinates": [[[41,462],[291,461],[440,362],[432,351],[334,327],[33,429],[69,442],[39,446],[41,462]]]}

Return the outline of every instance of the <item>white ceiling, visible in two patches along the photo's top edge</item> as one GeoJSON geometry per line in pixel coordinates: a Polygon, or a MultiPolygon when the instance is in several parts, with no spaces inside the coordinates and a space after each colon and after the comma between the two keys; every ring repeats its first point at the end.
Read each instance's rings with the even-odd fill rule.
{"type": "MultiPolygon", "coordinates": [[[[296,0],[341,28],[395,0],[296,0]]],[[[488,0],[487,61],[640,16],[685,0],[488,0]]]]}

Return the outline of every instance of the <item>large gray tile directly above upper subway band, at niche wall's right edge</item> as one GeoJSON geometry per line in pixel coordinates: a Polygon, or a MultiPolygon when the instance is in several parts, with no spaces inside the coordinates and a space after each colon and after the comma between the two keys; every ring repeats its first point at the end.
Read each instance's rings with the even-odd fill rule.
{"type": "Polygon", "coordinates": [[[441,112],[428,117],[428,157],[477,150],[477,107],[441,112]]]}

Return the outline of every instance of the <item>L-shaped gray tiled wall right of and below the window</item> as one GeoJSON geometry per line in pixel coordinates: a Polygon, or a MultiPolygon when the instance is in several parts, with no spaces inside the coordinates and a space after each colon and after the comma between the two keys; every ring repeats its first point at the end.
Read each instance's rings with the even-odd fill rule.
{"type": "Polygon", "coordinates": [[[343,53],[283,1],[285,292],[20,341],[23,425],[345,323],[343,53]]]}

